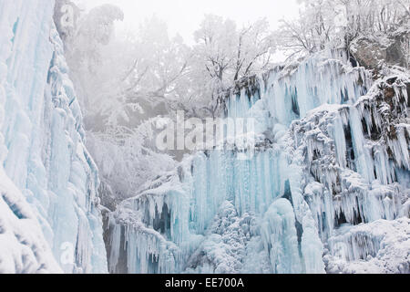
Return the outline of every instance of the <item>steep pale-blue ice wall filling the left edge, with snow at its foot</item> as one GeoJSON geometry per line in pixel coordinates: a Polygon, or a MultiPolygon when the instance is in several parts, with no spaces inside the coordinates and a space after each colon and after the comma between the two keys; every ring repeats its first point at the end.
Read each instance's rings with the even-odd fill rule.
{"type": "Polygon", "coordinates": [[[103,273],[97,167],[54,1],[0,1],[0,272],[103,273]]]}

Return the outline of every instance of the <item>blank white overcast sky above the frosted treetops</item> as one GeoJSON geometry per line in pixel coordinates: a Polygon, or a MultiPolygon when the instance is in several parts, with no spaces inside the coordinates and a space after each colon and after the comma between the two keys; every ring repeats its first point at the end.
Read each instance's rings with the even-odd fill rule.
{"type": "Polygon", "coordinates": [[[179,34],[185,41],[193,41],[193,32],[205,14],[224,16],[238,25],[266,17],[271,27],[281,18],[295,18],[299,14],[297,0],[77,0],[85,9],[102,4],[121,7],[125,14],[121,28],[138,26],[145,18],[156,15],[165,20],[171,35],[179,34]]]}

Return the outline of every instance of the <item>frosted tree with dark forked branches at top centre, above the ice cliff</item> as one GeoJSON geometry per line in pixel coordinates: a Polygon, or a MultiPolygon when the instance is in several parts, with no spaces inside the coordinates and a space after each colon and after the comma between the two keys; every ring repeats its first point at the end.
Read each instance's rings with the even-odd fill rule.
{"type": "MultiPolygon", "coordinates": [[[[266,19],[238,28],[230,19],[206,15],[195,40],[193,78],[208,103],[239,79],[266,70],[275,48],[266,19]]],[[[212,114],[215,110],[205,109],[212,114]]]]}

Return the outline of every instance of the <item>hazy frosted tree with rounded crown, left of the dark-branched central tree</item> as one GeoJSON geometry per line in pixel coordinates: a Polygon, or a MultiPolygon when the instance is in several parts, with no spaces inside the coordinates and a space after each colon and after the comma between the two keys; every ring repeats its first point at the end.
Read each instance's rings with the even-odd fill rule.
{"type": "Polygon", "coordinates": [[[149,110],[151,115],[166,114],[166,109],[183,100],[186,94],[190,47],[181,36],[169,36],[167,25],[156,16],[140,26],[134,39],[135,42],[128,44],[128,64],[124,64],[126,71],[121,84],[124,101],[149,110]]]}

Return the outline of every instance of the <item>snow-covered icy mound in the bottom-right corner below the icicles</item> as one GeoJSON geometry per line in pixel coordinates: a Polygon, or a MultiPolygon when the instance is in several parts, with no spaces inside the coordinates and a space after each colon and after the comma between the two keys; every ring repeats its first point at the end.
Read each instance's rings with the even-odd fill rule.
{"type": "Polygon", "coordinates": [[[343,226],[330,241],[331,273],[408,274],[410,220],[343,226]]]}

